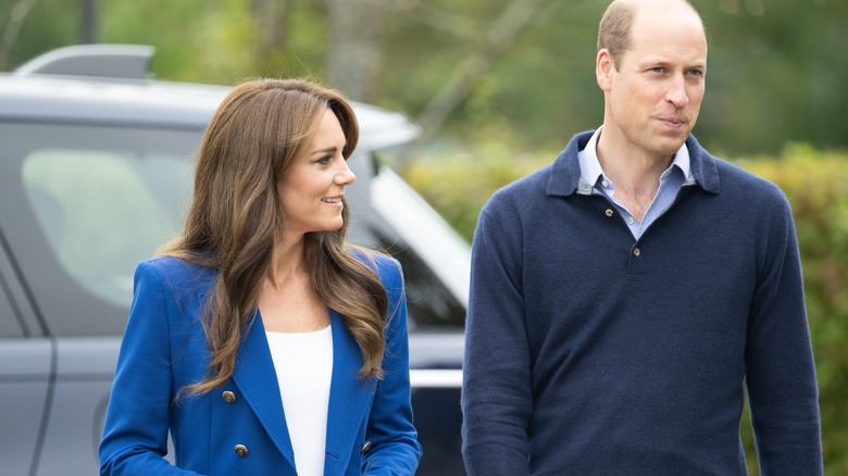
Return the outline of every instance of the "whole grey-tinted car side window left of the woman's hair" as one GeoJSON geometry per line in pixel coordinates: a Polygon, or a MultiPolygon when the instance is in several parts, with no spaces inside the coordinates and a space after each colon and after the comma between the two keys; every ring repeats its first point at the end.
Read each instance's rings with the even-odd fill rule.
{"type": "Polygon", "coordinates": [[[123,333],[136,264],[178,229],[190,200],[200,136],[0,123],[0,227],[51,334],[123,333]]]}

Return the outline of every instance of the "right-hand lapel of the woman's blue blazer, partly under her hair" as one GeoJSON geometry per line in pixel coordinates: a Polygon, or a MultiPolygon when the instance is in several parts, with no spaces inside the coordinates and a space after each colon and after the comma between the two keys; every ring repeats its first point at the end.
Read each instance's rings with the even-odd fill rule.
{"type": "Polygon", "coordinates": [[[331,310],[329,318],[333,326],[333,378],[324,474],[337,475],[344,474],[348,467],[359,429],[367,417],[367,405],[376,389],[376,380],[357,378],[363,362],[359,345],[336,311],[331,310]]]}

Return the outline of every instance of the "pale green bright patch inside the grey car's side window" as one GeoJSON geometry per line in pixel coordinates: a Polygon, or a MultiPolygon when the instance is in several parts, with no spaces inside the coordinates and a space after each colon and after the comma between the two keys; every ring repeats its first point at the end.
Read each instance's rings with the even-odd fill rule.
{"type": "MultiPolygon", "coordinates": [[[[133,262],[172,236],[172,203],[154,191],[184,175],[179,152],[37,148],[22,179],[35,217],[63,270],[104,301],[125,305],[133,262]]],[[[169,184],[177,189],[177,184],[169,184]]]]}

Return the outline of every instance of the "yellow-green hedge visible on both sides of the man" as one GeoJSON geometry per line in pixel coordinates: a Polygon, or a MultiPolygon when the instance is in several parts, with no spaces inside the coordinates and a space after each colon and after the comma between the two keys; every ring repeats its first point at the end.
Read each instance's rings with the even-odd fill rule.
{"type": "MultiPolygon", "coordinates": [[[[422,155],[401,167],[401,174],[471,240],[479,209],[491,192],[556,155],[557,151],[519,155],[485,145],[422,155]]],[[[848,152],[791,145],[781,156],[735,162],[777,184],[791,203],[819,376],[825,474],[848,474],[848,152]]],[[[752,454],[749,425],[743,430],[752,454]]],[[[756,461],[749,459],[749,469],[757,474],[756,461]]]]}

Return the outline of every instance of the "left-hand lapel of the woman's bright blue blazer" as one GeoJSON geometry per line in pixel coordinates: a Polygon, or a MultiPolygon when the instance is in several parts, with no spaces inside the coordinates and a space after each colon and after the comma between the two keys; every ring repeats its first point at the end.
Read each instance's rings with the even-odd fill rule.
{"type": "Polygon", "coordinates": [[[255,413],[265,431],[295,471],[295,450],[288,434],[279,385],[267,347],[265,327],[257,312],[245,341],[236,356],[233,381],[241,390],[245,400],[255,413]]]}

